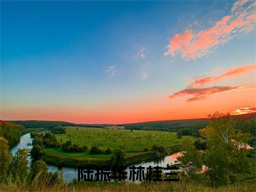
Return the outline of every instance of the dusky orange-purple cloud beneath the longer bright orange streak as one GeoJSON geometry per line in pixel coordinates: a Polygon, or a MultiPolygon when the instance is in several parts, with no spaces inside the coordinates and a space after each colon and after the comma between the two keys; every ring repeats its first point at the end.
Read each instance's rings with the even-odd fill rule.
{"type": "Polygon", "coordinates": [[[169,96],[170,99],[183,97],[187,95],[193,95],[187,102],[192,102],[196,100],[207,99],[211,95],[215,95],[217,93],[224,93],[224,92],[232,92],[240,90],[241,87],[238,86],[212,86],[209,88],[186,88],[181,90],[180,92],[173,93],[169,96]]]}

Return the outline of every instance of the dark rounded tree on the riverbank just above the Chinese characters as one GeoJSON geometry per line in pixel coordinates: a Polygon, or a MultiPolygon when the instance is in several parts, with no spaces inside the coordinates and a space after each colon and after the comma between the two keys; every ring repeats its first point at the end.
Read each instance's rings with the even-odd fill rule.
{"type": "Polygon", "coordinates": [[[124,149],[116,148],[111,157],[111,166],[115,168],[122,168],[126,164],[126,161],[125,161],[126,156],[127,154],[124,149]]]}

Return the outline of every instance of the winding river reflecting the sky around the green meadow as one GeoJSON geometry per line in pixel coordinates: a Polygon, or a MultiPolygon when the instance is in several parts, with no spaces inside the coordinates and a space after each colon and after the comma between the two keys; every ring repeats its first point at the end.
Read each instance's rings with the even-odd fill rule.
{"type": "MultiPolygon", "coordinates": [[[[28,143],[32,143],[33,138],[30,137],[30,133],[24,134],[20,138],[20,143],[13,147],[11,152],[14,155],[18,148],[28,148],[28,150],[31,150],[32,146],[28,145],[28,143]]],[[[158,161],[149,161],[149,162],[142,162],[139,164],[134,164],[134,166],[166,166],[166,164],[174,164],[175,161],[177,160],[177,156],[179,156],[179,153],[173,154],[171,156],[166,156],[163,159],[160,159],[158,161]]],[[[31,164],[31,157],[29,156],[29,166],[31,164]]],[[[77,179],[77,168],[68,168],[68,167],[63,167],[63,168],[57,168],[56,166],[48,165],[48,169],[50,172],[55,172],[56,170],[61,171],[63,170],[63,177],[66,182],[71,182],[74,178],[77,179]]],[[[93,170],[93,175],[96,172],[96,170],[93,170]]],[[[126,168],[125,172],[127,172],[127,177],[129,178],[129,167],[126,168]]],[[[127,181],[129,181],[127,179],[127,181]]]]}

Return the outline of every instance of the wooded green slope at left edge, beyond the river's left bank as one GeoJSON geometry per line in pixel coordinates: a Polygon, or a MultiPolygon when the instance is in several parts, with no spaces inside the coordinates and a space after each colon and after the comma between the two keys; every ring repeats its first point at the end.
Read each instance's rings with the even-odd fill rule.
{"type": "Polygon", "coordinates": [[[0,136],[4,137],[8,141],[10,148],[20,142],[20,136],[22,135],[23,130],[24,127],[21,125],[0,120],[0,136]]]}

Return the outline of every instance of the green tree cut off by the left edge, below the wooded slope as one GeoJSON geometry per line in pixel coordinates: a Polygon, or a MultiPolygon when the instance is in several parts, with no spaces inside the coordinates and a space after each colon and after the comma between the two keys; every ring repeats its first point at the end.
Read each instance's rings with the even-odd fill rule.
{"type": "Polygon", "coordinates": [[[3,137],[0,137],[0,182],[3,181],[6,176],[11,157],[8,141],[3,137]]]}

